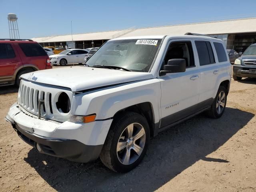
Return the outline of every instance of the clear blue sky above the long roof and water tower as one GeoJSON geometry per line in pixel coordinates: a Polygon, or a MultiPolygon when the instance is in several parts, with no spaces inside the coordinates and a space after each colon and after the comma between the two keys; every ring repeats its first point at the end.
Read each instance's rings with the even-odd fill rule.
{"type": "Polygon", "coordinates": [[[0,38],[8,13],[20,38],[256,17],[256,0],[0,0],[0,38]]]}

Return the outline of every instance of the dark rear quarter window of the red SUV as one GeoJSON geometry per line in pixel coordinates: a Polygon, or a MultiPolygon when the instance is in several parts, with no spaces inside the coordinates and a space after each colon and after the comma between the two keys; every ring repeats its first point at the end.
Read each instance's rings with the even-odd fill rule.
{"type": "Polygon", "coordinates": [[[27,57],[47,56],[42,46],[37,43],[19,43],[19,46],[27,57]]]}

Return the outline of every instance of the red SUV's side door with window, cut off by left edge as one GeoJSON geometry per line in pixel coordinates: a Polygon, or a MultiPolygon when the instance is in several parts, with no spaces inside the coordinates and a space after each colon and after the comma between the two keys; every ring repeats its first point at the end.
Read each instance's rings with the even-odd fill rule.
{"type": "Polygon", "coordinates": [[[22,65],[20,57],[15,54],[14,48],[10,43],[1,43],[0,44],[0,78],[10,78],[15,70],[22,65]]]}

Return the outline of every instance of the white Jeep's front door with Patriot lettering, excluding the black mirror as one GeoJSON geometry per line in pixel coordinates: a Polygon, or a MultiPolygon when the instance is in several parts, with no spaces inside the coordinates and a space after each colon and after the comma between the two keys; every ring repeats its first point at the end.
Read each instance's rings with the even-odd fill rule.
{"type": "MultiPolygon", "coordinates": [[[[186,71],[159,76],[161,82],[162,129],[195,112],[199,99],[200,73],[191,39],[170,40],[162,63],[170,59],[185,59],[186,71]]],[[[163,66],[161,68],[163,70],[163,66]]]]}

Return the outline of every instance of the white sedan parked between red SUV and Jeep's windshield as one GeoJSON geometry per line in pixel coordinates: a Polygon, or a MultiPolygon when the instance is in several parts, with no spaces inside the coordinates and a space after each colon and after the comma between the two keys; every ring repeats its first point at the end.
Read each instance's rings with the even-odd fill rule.
{"type": "Polygon", "coordinates": [[[68,49],[60,52],[59,54],[49,56],[52,65],[66,65],[84,62],[84,57],[88,51],[83,49],[68,49]]]}

